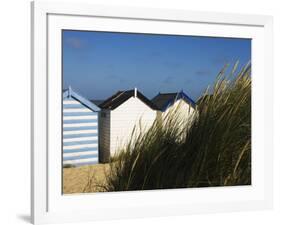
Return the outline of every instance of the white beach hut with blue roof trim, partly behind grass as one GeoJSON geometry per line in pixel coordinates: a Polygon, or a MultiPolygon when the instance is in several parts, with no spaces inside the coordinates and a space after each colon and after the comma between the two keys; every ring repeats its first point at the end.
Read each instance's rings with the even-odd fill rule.
{"type": "Polygon", "coordinates": [[[162,118],[176,112],[179,118],[192,121],[196,112],[196,103],[183,91],[159,93],[151,101],[159,109],[158,117],[162,118]]]}

